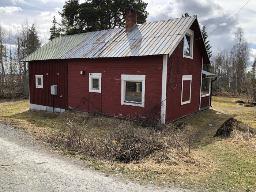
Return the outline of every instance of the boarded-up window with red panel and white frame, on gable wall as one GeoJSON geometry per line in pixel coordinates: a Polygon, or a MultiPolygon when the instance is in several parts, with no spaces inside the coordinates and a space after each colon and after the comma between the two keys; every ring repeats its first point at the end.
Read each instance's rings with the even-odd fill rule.
{"type": "Polygon", "coordinates": [[[192,75],[182,75],[181,105],[190,103],[192,75]]]}

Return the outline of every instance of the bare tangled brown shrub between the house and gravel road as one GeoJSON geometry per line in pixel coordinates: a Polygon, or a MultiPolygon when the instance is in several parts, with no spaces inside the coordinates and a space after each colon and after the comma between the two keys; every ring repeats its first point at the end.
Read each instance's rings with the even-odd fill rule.
{"type": "Polygon", "coordinates": [[[139,163],[150,159],[155,163],[176,164],[182,159],[196,163],[189,156],[193,139],[187,129],[174,131],[167,126],[159,131],[127,120],[114,120],[108,127],[108,133],[100,137],[89,124],[72,119],[64,127],[53,127],[44,135],[49,143],[108,161],[139,163]]]}

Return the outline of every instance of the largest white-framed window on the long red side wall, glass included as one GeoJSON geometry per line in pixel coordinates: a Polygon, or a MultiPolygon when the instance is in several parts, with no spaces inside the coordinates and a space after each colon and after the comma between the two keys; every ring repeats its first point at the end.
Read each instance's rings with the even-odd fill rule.
{"type": "Polygon", "coordinates": [[[121,75],[121,105],[144,107],[146,75],[121,75]]]}

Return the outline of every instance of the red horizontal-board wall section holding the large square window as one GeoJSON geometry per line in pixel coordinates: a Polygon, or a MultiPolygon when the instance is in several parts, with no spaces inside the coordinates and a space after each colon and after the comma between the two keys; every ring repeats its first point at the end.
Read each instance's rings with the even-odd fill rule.
{"type": "Polygon", "coordinates": [[[68,107],[124,118],[150,119],[161,110],[163,56],[69,59],[68,107]],[[80,71],[86,71],[80,75],[80,71]],[[101,73],[101,93],[89,93],[89,73],[101,73]],[[145,108],[121,105],[121,75],[146,75],[145,108]]]}

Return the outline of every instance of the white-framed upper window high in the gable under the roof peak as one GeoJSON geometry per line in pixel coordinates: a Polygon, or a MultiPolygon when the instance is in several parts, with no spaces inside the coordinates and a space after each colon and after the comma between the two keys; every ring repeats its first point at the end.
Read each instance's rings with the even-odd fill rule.
{"type": "Polygon", "coordinates": [[[193,59],[194,31],[189,29],[184,36],[183,57],[193,59]]]}

